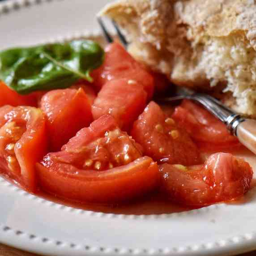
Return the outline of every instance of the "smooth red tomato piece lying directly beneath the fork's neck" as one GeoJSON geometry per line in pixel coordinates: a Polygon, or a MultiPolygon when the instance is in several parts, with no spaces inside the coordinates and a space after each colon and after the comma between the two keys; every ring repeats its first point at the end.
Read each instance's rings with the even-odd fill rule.
{"type": "Polygon", "coordinates": [[[221,121],[189,100],[184,100],[180,107],[175,108],[172,118],[203,149],[221,150],[240,145],[238,139],[228,132],[221,121]]]}

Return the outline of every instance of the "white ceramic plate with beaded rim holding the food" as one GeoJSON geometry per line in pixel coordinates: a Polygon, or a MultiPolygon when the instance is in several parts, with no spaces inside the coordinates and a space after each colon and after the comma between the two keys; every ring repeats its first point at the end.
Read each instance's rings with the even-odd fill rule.
{"type": "MultiPolygon", "coordinates": [[[[107,2],[4,2],[0,4],[0,49],[92,32],[97,29],[94,15],[107,2]]],[[[252,155],[246,157],[256,166],[252,155]]],[[[150,212],[147,205],[141,207],[150,212]]],[[[256,249],[255,224],[255,189],[239,204],[124,215],[55,204],[0,178],[0,243],[44,255],[235,255],[256,249]]]]}

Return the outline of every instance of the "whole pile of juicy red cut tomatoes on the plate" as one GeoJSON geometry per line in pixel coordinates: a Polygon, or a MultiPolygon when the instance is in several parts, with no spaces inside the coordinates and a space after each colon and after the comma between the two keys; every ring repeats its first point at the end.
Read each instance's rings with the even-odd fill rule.
{"type": "Polygon", "coordinates": [[[243,196],[253,174],[247,162],[226,153],[202,162],[205,150],[239,148],[226,126],[188,100],[150,102],[168,79],[119,43],[105,51],[93,83],[24,96],[0,82],[1,173],[31,192],[79,202],[119,204],[159,189],[193,207],[243,196]]]}

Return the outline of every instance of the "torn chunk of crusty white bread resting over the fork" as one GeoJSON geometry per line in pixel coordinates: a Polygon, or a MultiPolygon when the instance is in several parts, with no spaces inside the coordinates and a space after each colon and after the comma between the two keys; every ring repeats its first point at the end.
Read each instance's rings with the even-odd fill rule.
{"type": "Polygon", "coordinates": [[[223,90],[227,105],[256,117],[255,0],[121,0],[100,14],[150,68],[177,85],[223,90]]]}

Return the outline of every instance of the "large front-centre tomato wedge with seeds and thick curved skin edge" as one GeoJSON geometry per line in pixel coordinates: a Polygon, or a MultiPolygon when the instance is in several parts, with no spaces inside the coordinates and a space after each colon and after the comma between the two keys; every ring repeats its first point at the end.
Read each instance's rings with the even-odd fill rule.
{"type": "Polygon", "coordinates": [[[81,129],[62,150],[37,164],[41,187],[76,201],[127,201],[156,188],[158,166],[110,115],[81,129]]]}

